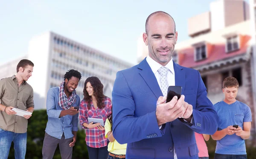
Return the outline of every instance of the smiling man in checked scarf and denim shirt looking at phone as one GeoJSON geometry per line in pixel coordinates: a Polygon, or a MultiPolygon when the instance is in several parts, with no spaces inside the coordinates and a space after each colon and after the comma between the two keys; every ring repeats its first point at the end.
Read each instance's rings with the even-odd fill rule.
{"type": "Polygon", "coordinates": [[[47,93],[48,122],[42,149],[43,159],[52,159],[57,145],[62,159],[72,158],[80,104],[80,97],[75,89],[80,79],[81,73],[70,69],[59,87],[50,88],[47,93]]]}

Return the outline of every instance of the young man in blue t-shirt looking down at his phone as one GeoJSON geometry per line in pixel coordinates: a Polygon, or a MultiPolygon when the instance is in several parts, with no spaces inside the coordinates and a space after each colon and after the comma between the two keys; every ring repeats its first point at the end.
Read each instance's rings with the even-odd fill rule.
{"type": "Polygon", "coordinates": [[[238,87],[236,78],[225,78],[225,99],[214,104],[219,117],[218,130],[212,135],[217,140],[214,159],[247,159],[244,140],[250,137],[252,115],[250,107],[236,100],[238,87]]]}

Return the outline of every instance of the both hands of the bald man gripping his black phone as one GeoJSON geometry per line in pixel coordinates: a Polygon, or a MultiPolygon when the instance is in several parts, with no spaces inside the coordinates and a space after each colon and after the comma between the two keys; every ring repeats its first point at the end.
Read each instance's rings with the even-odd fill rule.
{"type": "Polygon", "coordinates": [[[160,96],[158,98],[156,111],[158,126],[169,121],[174,121],[178,117],[183,117],[185,113],[186,117],[192,114],[188,104],[184,107],[184,95],[181,95],[179,100],[177,99],[177,96],[174,96],[171,101],[165,103],[166,97],[160,96]]]}

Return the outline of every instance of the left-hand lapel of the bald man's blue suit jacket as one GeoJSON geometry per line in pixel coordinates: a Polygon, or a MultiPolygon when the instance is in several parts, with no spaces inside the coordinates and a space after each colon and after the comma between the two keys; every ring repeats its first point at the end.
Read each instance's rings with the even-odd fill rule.
{"type": "Polygon", "coordinates": [[[157,83],[157,78],[155,77],[150,66],[148,65],[146,58],[140,62],[140,64],[138,65],[138,69],[141,69],[140,75],[148,84],[148,87],[154,93],[156,98],[158,99],[160,96],[163,96],[163,93],[157,83]]]}

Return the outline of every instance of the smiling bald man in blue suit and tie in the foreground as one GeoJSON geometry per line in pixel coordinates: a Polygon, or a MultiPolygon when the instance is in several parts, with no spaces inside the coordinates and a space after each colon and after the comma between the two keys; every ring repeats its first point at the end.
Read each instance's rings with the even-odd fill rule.
{"type": "Polygon", "coordinates": [[[117,72],[112,91],[113,136],[126,159],[198,159],[195,133],[213,134],[218,116],[195,69],[175,64],[178,33],[165,12],[150,14],[143,40],[148,56],[117,72]],[[181,86],[166,103],[169,86],[181,86]]]}

